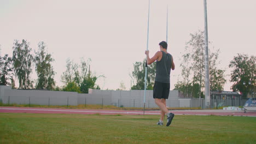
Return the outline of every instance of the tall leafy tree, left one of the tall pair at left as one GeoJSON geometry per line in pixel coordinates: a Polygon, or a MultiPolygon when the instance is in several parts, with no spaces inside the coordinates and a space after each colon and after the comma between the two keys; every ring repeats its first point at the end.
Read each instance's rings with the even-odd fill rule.
{"type": "Polygon", "coordinates": [[[33,56],[30,54],[30,43],[22,39],[14,41],[13,46],[13,69],[15,77],[19,79],[19,88],[28,89],[33,87],[31,80],[33,56]]]}

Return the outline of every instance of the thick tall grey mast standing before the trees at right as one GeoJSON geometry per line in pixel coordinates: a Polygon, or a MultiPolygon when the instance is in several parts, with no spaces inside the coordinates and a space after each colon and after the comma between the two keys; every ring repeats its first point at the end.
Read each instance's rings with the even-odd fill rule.
{"type": "Polygon", "coordinates": [[[208,28],[207,28],[207,7],[206,0],[203,0],[205,9],[205,105],[211,106],[210,79],[209,79],[209,55],[208,55],[208,28]]]}

